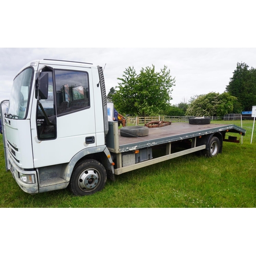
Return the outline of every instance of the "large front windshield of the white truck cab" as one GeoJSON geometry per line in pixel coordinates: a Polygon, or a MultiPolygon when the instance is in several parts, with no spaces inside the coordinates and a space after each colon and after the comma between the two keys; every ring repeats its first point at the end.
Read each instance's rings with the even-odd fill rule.
{"type": "Polygon", "coordinates": [[[26,117],[32,75],[32,68],[28,68],[14,79],[9,102],[9,118],[24,119],[26,117]]]}

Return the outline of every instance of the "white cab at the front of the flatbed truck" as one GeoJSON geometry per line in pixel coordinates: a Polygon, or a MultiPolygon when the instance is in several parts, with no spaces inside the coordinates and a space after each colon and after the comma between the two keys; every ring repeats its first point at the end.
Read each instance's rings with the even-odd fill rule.
{"type": "Polygon", "coordinates": [[[90,63],[34,60],[18,72],[2,120],[6,168],[24,191],[66,188],[90,156],[104,171],[89,164],[73,190],[87,195],[103,187],[106,172],[114,173],[105,96],[102,68],[90,63]]]}

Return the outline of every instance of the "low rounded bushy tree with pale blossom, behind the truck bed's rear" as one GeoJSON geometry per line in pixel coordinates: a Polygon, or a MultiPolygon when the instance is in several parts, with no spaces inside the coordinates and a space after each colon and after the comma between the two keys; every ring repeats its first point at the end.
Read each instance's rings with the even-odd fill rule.
{"type": "Polygon", "coordinates": [[[237,98],[229,93],[208,93],[195,97],[188,106],[187,116],[224,116],[233,113],[237,98]]]}

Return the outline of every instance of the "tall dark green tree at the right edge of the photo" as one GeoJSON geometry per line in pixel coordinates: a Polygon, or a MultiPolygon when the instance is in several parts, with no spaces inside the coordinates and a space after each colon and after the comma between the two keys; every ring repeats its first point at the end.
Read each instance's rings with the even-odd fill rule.
{"type": "Polygon", "coordinates": [[[226,91],[237,97],[244,111],[251,111],[256,104],[256,70],[246,63],[237,63],[237,69],[230,78],[226,91]]]}

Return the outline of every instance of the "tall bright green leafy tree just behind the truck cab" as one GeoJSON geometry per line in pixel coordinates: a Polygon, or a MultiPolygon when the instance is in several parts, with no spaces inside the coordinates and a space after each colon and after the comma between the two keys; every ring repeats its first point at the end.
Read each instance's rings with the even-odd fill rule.
{"type": "Polygon", "coordinates": [[[142,68],[138,75],[134,67],[126,68],[116,87],[113,102],[121,113],[131,115],[154,115],[165,111],[172,99],[175,78],[164,66],[160,72],[155,66],[142,68]]]}

